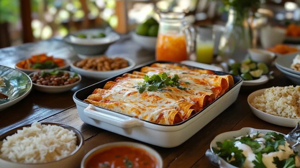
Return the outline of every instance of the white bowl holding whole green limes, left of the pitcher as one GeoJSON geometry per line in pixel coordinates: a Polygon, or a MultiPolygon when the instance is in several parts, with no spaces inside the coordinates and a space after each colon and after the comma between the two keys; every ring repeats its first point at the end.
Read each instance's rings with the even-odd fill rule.
{"type": "Polygon", "coordinates": [[[131,35],[134,42],[138,43],[147,50],[155,51],[157,37],[141,36],[138,35],[135,31],[132,32],[131,35]]]}

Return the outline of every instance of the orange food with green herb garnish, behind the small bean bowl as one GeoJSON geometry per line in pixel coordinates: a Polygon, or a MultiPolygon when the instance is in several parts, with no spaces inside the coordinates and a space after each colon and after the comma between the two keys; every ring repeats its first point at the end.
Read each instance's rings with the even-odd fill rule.
{"type": "Polygon", "coordinates": [[[22,60],[17,63],[16,66],[23,69],[53,69],[65,66],[65,63],[61,58],[53,58],[53,56],[39,54],[32,55],[31,58],[22,60]]]}

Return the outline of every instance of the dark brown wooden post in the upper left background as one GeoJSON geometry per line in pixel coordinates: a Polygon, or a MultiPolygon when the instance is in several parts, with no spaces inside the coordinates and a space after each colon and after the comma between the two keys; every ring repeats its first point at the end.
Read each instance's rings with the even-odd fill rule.
{"type": "Polygon", "coordinates": [[[33,34],[31,28],[31,7],[30,0],[20,1],[20,15],[22,19],[22,38],[23,43],[33,42],[33,34]]]}

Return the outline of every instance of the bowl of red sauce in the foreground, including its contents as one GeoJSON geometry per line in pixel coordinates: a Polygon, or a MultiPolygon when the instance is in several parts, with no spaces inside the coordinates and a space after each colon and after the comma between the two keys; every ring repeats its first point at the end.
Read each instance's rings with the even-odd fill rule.
{"type": "Polygon", "coordinates": [[[88,152],[81,168],[162,168],[163,161],[154,149],[133,142],[115,142],[88,152]]]}

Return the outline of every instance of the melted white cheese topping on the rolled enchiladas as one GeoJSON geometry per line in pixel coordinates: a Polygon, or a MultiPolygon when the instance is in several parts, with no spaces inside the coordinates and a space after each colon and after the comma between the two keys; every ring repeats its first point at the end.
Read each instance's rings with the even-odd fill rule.
{"type": "MultiPolygon", "coordinates": [[[[188,89],[180,90],[168,86],[163,88],[164,91],[139,93],[138,83],[143,83],[144,79],[129,75],[132,78],[119,77],[116,78],[115,83],[108,82],[105,87],[109,88],[108,90],[96,89],[85,102],[146,121],[170,125],[175,122],[176,116],[177,119],[179,117],[184,120],[198,112],[196,109],[204,108],[207,102],[210,103],[212,100],[205,96],[210,98],[210,95],[214,95],[215,98],[222,90],[221,87],[215,86],[214,79],[205,79],[209,75],[201,75],[199,72],[187,74],[180,69],[174,72],[170,69],[165,71],[170,75],[181,74],[180,86],[188,89]]],[[[149,72],[148,75],[157,73],[159,72],[149,72]]]]}

